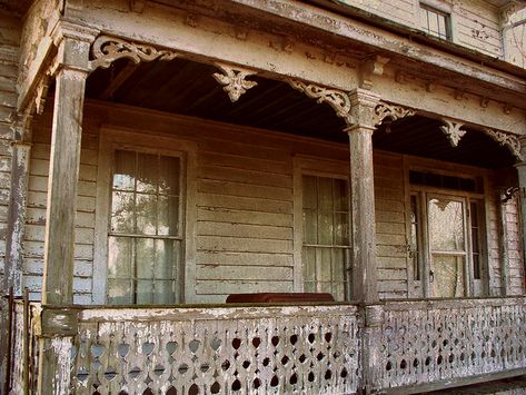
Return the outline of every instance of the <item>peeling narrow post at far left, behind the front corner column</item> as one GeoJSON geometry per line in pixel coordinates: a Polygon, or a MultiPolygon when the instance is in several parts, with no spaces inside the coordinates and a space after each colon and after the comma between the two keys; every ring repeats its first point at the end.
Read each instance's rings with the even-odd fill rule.
{"type": "Polygon", "coordinates": [[[3,290],[11,287],[16,296],[22,295],[23,235],[26,230],[26,204],[31,151],[30,113],[17,115],[13,119],[11,162],[11,198],[9,203],[8,234],[6,236],[6,275],[3,290]]]}

